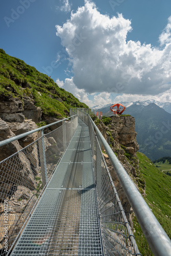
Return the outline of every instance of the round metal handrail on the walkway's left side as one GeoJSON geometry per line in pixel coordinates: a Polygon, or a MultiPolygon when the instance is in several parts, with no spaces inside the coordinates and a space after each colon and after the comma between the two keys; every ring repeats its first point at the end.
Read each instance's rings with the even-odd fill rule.
{"type": "Polygon", "coordinates": [[[34,129],[34,130],[32,130],[32,131],[29,131],[29,132],[26,132],[26,133],[23,133],[23,134],[14,136],[14,137],[9,138],[9,139],[2,140],[2,141],[0,141],[0,147],[1,147],[1,146],[4,146],[4,145],[6,145],[6,144],[8,144],[8,143],[10,143],[10,142],[13,142],[13,141],[15,141],[15,140],[18,140],[18,139],[21,139],[21,138],[23,138],[23,137],[26,137],[26,136],[28,136],[28,135],[30,135],[30,134],[32,134],[32,133],[36,133],[36,132],[42,131],[42,130],[44,130],[44,129],[46,129],[46,128],[48,128],[48,127],[54,125],[54,124],[57,124],[57,123],[59,123],[59,122],[65,121],[65,120],[68,120],[68,119],[73,118],[73,117],[75,117],[75,116],[77,116],[77,115],[70,116],[70,117],[67,117],[67,118],[65,118],[65,119],[56,121],[56,122],[54,122],[54,123],[50,123],[50,124],[41,126],[41,127],[37,128],[37,129],[34,129]]]}

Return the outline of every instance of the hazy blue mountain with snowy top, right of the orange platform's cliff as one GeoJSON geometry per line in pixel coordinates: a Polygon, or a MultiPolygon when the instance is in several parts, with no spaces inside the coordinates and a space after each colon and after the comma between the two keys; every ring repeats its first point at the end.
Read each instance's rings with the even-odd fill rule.
{"type": "MultiPolygon", "coordinates": [[[[156,103],[147,101],[119,102],[126,106],[124,114],[130,114],[135,118],[137,142],[139,151],[152,160],[164,156],[171,156],[171,111],[170,103],[156,103]]],[[[110,110],[110,105],[97,109],[103,113],[110,110]]]]}

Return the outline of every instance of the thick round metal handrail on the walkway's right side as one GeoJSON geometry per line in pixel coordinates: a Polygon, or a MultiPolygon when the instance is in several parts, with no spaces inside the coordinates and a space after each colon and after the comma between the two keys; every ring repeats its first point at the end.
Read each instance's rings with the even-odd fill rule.
{"type": "MultiPolygon", "coordinates": [[[[88,115],[85,113],[85,115],[88,115]]],[[[108,142],[104,139],[103,135],[97,128],[94,121],[89,116],[98,138],[100,138],[106,154],[108,155],[114,170],[119,178],[122,188],[129,200],[135,216],[142,228],[144,236],[151,247],[155,256],[169,256],[171,255],[171,242],[166,232],[154,216],[152,210],[148,207],[147,203],[139,193],[134,182],[131,180],[130,176],[126,173],[125,169],[119,162],[118,158],[115,156],[112,148],[109,146],[108,142]]]]}

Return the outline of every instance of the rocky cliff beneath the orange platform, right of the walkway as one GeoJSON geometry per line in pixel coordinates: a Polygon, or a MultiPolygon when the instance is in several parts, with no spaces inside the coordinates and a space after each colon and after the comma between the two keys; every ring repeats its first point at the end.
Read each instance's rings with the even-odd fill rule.
{"type": "MultiPolygon", "coordinates": [[[[115,155],[123,165],[126,172],[129,174],[131,179],[134,181],[136,187],[142,195],[145,194],[145,181],[139,170],[139,160],[136,153],[139,149],[136,141],[135,132],[135,119],[132,116],[113,116],[111,118],[102,118],[102,121],[95,119],[95,123],[98,129],[108,141],[115,155]],[[105,123],[108,123],[105,125],[105,123]]],[[[104,152],[104,148],[102,147],[104,152]]],[[[108,158],[108,155],[104,152],[104,158],[110,170],[112,179],[115,187],[119,194],[119,198],[122,202],[122,206],[125,210],[126,217],[132,225],[131,214],[133,212],[130,203],[128,202],[126,195],[122,189],[119,179],[114,171],[114,168],[108,158]]]]}

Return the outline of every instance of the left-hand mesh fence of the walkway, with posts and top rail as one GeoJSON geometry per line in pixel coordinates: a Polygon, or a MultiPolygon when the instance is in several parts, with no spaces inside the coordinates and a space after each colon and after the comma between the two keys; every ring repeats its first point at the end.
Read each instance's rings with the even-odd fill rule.
{"type": "Polygon", "coordinates": [[[19,148],[0,162],[0,255],[15,245],[77,126],[75,115],[0,142],[2,156],[19,148]],[[54,124],[60,126],[44,134],[54,124]],[[33,133],[34,142],[22,148],[18,141],[33,133]]]}

